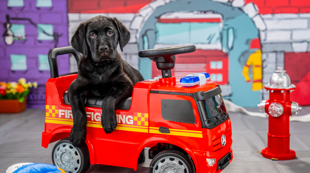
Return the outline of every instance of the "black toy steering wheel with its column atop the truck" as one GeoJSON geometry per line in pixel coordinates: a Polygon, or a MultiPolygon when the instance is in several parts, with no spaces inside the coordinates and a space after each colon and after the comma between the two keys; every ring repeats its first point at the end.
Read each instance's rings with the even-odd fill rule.
{"type": "Polygon", "coordinates": [[[140,58],[150,58],[156,63],[157,69],[162,71],[162,78],[171,77],[171,69],[175,66],[175,55],[196,51],[195,45],[167,47],[160,49],[141,50],[140,58]]]}

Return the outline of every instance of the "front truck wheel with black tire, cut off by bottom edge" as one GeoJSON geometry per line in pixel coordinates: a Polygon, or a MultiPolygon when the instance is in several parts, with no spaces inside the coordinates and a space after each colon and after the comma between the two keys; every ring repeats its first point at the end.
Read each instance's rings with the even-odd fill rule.
{"type": "Polygon", "coordinates": [[[194,164],[183,153],[164,150],[158,153],[150,164],[149,173],[194,173],[194,164]]]}

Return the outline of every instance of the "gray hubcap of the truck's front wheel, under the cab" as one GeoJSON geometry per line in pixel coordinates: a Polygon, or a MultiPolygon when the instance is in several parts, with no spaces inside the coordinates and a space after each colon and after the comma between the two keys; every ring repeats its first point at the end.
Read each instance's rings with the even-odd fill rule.
{"type": "Polygon", "coordinates": [[[167,156],[157,161],[153,168],[153,173],[188,173],[188,167],[179,158],[167,156]]]}

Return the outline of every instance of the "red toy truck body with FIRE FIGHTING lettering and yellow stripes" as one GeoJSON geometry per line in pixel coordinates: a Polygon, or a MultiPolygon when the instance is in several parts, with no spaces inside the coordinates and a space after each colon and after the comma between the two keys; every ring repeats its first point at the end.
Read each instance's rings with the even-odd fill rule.
{"type": "MultiPolygon", "coordinates": [[[[77,74],[50,78],[47,81],[45,130],[42,147],[69,136],[73,125],[71,106],[64,94],[77,74]]],[[[218,161],[230,154],[232,161],[232,130],[230,118],[214,128],[202,126],[201,110],[192,96],[218,87],[214,82],[193,87],[181,86],[175,77],[144,80],[135,84],[129,110],[116,110],[117,127],[106,134],[101,125],[101,107],[85,106],[87,114],[86,145],[91,164],[103,164],[137,169],[140,152],[158,143],[177,146],[192,159],[197,173],[221,172],[218,161]],[[166,120],[162,116],[162,100],[187,100],[193,107],[195,123],[166,120]],[[162,133],[160,127],[169,128],[162,133]],[[224,146],[223,135],[226,137],[224,146]],[[222,143],[221,143],[222,142],[222,143]],[[206,159],[215,158],[209,166],[206,159]]],[[[224,103],[223,103],[224,105],[224,103]]],[[[226,110],[225,110],[226,111],[226,110]]],[[[228,163],[227,163],[228,164],[228,163]]],[[[227,166],[227,165],[226,165],[227,166]]],[[[225,166],[225,167],[226,167],[225,166]]]]}

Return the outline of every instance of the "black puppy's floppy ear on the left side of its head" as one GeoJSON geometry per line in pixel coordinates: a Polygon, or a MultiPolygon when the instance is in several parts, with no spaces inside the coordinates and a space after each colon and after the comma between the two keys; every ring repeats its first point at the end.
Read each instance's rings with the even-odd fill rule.
{"type": "Polygon", "coordinates": [[[82,22],[77,30],[75,31],[73,37],[71,38],[71,45],[72,47],[80,52],[81,54],[84,54],[85,57],[87,57],[88,52],[88,46],[86,42],[86,22],[82,22]]]}

